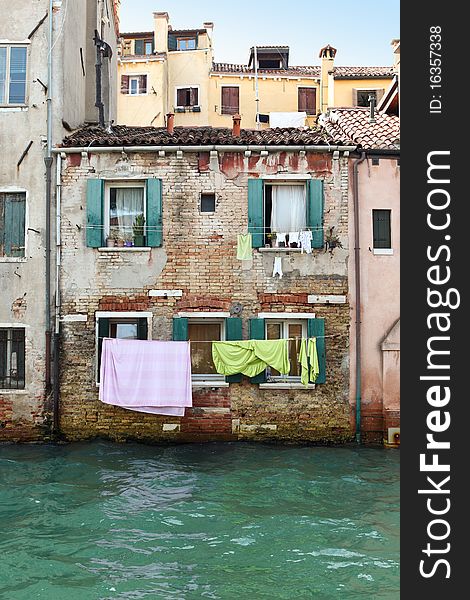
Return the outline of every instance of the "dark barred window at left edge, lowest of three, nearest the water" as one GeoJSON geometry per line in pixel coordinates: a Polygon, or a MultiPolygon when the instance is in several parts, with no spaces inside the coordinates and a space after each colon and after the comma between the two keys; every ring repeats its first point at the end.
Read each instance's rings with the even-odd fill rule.
{"type": "Polygon", "coordinates": [[[25,387],[25,330],[0,328],[0,388],[19,390],[25,387]]]}

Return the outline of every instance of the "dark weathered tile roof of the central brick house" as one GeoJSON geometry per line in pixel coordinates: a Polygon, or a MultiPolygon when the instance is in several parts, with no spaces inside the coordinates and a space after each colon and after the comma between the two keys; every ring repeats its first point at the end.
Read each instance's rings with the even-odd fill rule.
{"type": "Polygon", "coordinates": [[[112,132],[96,125],[83,127],[63,140],[65,147],[93,146],[200,146],[200,145],[351,145],[347,136],[329,135],[323,129],[275,128],[242,129],[240,137],[222,127],[127,127],[116,125],[112,132]]]}

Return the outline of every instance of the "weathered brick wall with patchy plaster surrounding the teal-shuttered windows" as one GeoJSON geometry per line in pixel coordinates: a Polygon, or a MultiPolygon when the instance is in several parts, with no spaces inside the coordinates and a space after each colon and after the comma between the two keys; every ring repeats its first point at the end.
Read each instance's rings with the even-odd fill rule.
{"type": "Polygon", "coordinates": [[[61,415],[67,439],[193,441],[257,439],[341,442],[351,438],[348,304],[309,304],[309,294],[347,295],[347,158],[331,154],[133,153],[69,158],[62,180],[61,415]],[[330,254],[283,254],[284,277],[272,277],[273,253],[236,259],[246,232],[247,180],[262,174],[301,173],[325,180],[325,229],[335,227],[343,248],[330,254]],[[148,251],[100,251],[85,246],[86,180],[160,177],[163,246],[148,251]],[[216,192],[215,213],[199,211],[201,192],[216,192]],[[181,298],[149,297],[151,289],[182,290],[181,298]],[[149,311],[152,338],[169,340],[179,311],[228,311],[242,305],[243,335],[258,312],[315,312],[325,318],[327,383],[315,389],[261,389],[244,378],[229,387],[194,388],[183,418],[126,411],[98,400],[95,313],[149,311]]]}

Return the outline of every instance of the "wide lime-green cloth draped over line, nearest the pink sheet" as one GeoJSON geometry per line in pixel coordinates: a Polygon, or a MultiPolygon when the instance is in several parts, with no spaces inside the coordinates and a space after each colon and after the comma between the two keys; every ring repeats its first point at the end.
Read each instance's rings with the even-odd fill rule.
{"type": "Polygon", "coordinates": [[[290,371],[287,340],[212,342],[212,360],[221,375],[255,377],[268,366],[282,375],[290,371]]]}

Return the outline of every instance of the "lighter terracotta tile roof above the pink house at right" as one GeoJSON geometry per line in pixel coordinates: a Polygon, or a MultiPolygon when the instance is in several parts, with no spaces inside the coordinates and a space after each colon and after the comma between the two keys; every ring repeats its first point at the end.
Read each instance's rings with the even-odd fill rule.
{"type": "Polygon", "coordinates": [[[400,119],[376,112],[375,121],[370,122],[368,108],[332,108],[320,117],[320,124],[334,138],[349,138],[364,149],[399,149],[400,119]]]}

